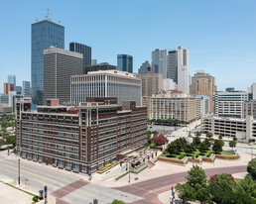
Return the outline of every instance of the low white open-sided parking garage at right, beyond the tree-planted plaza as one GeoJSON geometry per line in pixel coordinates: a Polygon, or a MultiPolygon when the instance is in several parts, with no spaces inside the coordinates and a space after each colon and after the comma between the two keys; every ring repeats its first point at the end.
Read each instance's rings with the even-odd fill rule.
{"type": "Polygon", "coordinates": [[[205,117],[202,119],[202,133],[232,137],[239,140],[256,141],[256,121],[252,116],[246,119],[205,117]]]}

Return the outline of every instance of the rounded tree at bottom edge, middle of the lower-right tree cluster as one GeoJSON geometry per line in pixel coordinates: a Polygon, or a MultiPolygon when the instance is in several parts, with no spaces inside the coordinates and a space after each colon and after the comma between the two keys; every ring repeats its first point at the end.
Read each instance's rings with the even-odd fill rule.
{"type": "Polygon", "coordinates": [[[215,203],[232,204],[234,187],[235,181],[231,174],[213,175],[209,179],[209,190],[215,203]]]}

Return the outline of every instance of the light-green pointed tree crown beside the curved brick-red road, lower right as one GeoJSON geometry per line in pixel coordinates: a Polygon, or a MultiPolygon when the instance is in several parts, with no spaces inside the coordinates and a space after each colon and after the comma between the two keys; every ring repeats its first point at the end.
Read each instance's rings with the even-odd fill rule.
{"type": "Polygon", "coordinates": [[[194,188],[195,192],[206,186],[206,175],[201,167],[193,165],[188,173],[187,182],[194,188]]]}

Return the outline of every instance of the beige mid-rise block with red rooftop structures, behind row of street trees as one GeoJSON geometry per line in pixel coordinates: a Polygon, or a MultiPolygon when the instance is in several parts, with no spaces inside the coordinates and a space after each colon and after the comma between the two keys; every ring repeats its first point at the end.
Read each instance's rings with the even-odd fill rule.
{"type": "Polygon", "coordinates": [[[196,120],[195,97],[162,91],[150,97],[148,103],[149,119],[178,119],[189,123],[196,120]]]}

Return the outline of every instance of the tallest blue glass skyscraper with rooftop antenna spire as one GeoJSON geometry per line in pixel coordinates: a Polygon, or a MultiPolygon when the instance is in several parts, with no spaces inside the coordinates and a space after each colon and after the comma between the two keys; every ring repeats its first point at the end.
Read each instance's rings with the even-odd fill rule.
{"type": "Polygon", "coordinates": [[[43,21],[36,20],[31,32],[31,85],[32,101],[43,104],[44,50],[55,46],[64,49],[64,27],[50,19],[49,13],[43,21]]]}

